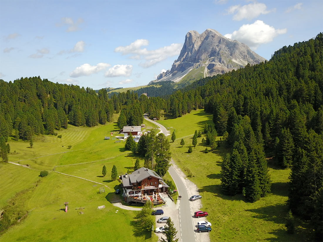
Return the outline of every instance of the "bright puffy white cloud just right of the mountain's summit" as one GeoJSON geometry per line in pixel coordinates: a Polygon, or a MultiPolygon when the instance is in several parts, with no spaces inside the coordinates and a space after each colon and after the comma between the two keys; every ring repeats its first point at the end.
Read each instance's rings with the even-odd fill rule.
{"type": "Polygon", "coordinates": [[[286,28],[275,29],[261,20],[256,20],[255,23],[242,25],[239,30],[224,36],[232,40],[238,40],[255,50],[259,45],[272,42],[277,35],[286,34],[286,32],[286,28]]]}

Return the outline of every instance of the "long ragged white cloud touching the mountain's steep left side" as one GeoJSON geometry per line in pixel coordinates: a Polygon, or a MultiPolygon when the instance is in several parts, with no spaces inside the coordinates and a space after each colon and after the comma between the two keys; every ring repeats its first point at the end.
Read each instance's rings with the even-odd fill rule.
{"type": "Polygon", "coordinates": [[[155,50],[147,50],[141,48],[149,45],[146,39],[137,39],[135,42],[127,46],[119,46],[114,49],[115,52],[120,52],[122,55],[130,55],[130,59],[143,59],[145,62],[140,63],[142,67],[150,67],[170,56],[179,55],[182,49],[182,44],[171,44],[155,50]]]}

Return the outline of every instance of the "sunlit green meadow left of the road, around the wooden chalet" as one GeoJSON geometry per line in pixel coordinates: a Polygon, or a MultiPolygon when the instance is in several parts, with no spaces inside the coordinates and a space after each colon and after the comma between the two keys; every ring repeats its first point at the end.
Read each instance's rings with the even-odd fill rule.
{"type": "MultiPolygon", "coordinates": [[[[149,123],[146,126],[153,128],[149,123]]],[[[115,123],[91,128],[69,125],[68,129],[58,131],[62,138],[36,136],[33,148],[29,148],[29,142],[10,140],[11,151],[16,152],[9,154],[9,161],[28,164],[31,169],[1,164],[0,210],[16,209],[19,214],[28,214],[18,225],[10,227],[1,241],[157,241],[150,233],[134,234],[135,211],[112,205],[114,199],[121,199],[114,194],[119,182],[111,181],[112,166],[116,165],[122,174],[132,170],[136,160],[124,150],[123,141],[115,143],[117,139],[112,139],[115,134],[111,136],[110,132],[116,130],[119,128],[115,123]],[[111,139],[104,140],[104,136],[111,139]],[[69,145],[71,149],[67,149],[69,145]],[[101,174],[103,165],[107,167],[105,177],[101,174]],[[103,185],[58,174],[52,170],[54,167],[56,171],[103,185]],[[48,176],[39,177],[41,170],[48,170],[48,176]],[[100,187],[105,188],[105,193],[98,193],[100,187]],[[67,213],[59,210],[64,202],[69,203],[67,213]],[[99,210],[101,205],[106,208],[99,210]],[[79,207],[84,207],[84,214],[78,214],[79,207]]]]}

